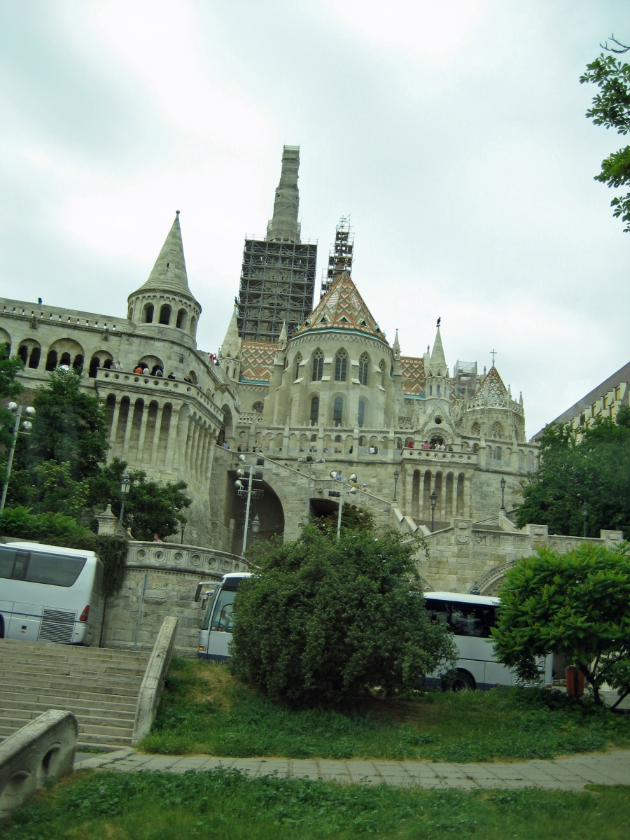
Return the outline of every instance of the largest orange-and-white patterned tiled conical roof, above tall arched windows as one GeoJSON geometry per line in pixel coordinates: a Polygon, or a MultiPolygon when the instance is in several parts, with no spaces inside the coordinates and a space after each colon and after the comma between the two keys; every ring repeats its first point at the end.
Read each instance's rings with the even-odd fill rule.
{"type": "Polygon", "coordinates": [[[372,318],[372,313],[365,306],[357,287],[347,274],[342,274],[318,306],[313,309],[307,320],[297,330],[296,335],[303,335],[320,330],[348,330],[353,333],[365,333],[385,341],[385,335],[372,318]]]}

